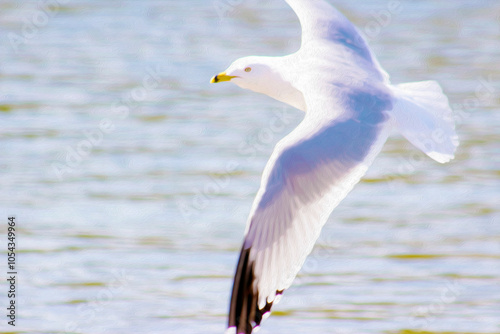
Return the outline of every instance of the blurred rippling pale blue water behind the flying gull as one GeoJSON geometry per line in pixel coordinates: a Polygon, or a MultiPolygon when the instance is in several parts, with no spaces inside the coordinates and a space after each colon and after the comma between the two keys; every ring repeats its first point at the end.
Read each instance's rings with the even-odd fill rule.
{"type": "MultiPolygon", "coordinates": [[[[500,332],[500,3],[331,1],[461,146],[402,137],[334,211],[261,333],[500,332]]],[[[282,0],[0,1],[0,224],[14,333],[222,333],[260,175],[302,113],[210,77],[285,55],[282,0]]],[[[0,303],[5,310],[7,284],[0,303]]]]}

